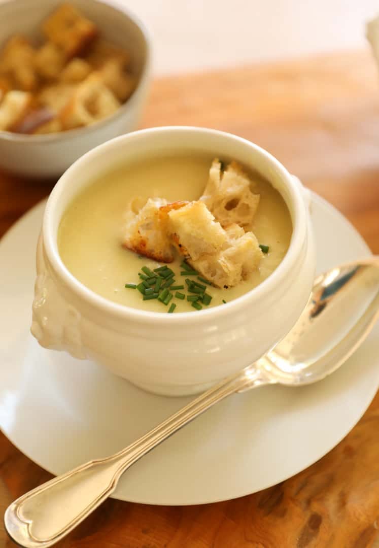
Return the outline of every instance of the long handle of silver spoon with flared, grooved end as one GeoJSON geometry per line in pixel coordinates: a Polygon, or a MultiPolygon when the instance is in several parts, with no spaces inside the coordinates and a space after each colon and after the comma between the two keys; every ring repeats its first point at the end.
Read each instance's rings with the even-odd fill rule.
{"type": "Polygon", "coordinates": [[[234,392],[270,381],[249,366],[211,387],[128,447],[51,479],[15,500],[5,511],[8,533],[21,546],[55,544],[116,489],[122,473],[182,426],[234,392]]]}

